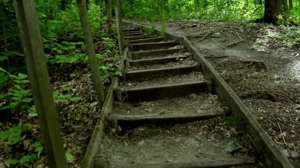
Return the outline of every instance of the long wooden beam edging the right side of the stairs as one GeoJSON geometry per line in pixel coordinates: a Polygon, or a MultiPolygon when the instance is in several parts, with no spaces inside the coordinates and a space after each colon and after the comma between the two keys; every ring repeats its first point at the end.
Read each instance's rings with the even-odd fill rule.
{"type": "MultiPolygon", "coordinates": [[[[143,28],[142,25],[123,21],[133,28],[143,28]]],[[[160,34],[160,30],[155,29],[156,34],[160,34]]],[[[245,130],[253,138],[254,145],[262,156],[266,159],[264,163],[269,168],[293,168],[289,160],[284,156],[279,147],[263,130],[263,127],[257,121],[255,116],[249,111],[237,94],[225,82],[225,80],[218,74],[215,68],[206,60],[204,56],[191,44],[185,36],[180,36],[166,31],[166,36],[169,39],[176,40],[183,44],[188,51],[194,55],[194,58],[201,64],[202,71],[205,76],[210,78],[214,84],[214,89],[220,98],[225,101],[231,110],[240,119],[239,123],[243,123],[245,130]]]]}

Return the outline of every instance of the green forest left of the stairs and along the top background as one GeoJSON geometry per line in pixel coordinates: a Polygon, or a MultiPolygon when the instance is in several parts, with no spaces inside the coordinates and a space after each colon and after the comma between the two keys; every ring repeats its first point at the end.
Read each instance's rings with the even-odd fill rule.
{"type": "MultiPolygon", "coordinates": [[[[277,16],[276,24],[295,27],[300,23],[300,0],[284,2],[284,13],[277,16]]],[[[264,15],[263,0],[122,0],[121,3],[123,17],[149,19],[154,25],[157,20],[165,22],[172,18],[241,22],[251,26],[264,15]]],[[[88,69],[88,58],[76,0],[36,0],[36,8],[66,156],[70,163],[77,164],[89,141],[99,108],[96,96],[90,92],[94,93],[94,88],[82,89],[90,83],[74,82],[90,77],[89,70],[84,70],[88,69]],[[75,85],[80,84],[76,88],[75,85]],[[78,125],[81,130],[75,127],[78,125]],[[87,125],[90,128],[84,131],[87,125]],[[75,137],[80,131],[86,132],[81,138],[88,136],[85,139],[75,137]],[[76,138],[77,142],[70,145],[76,138]]],[[[114,32],[107,34],[102,28],[106,21],[105,1],[88,0],[87,8],[99,70],[104,85],[109,86],[113,76],[121,75],[116,71],[119,58],[116,39],[114,32]]],[[[0,25],[0,158],[3,159],[0,162],[17,166],[45,163],[11,0],[0,0],[0,25]]],[[[299,46],[299,28],[294,32],[293,45],[299,46]]]]}

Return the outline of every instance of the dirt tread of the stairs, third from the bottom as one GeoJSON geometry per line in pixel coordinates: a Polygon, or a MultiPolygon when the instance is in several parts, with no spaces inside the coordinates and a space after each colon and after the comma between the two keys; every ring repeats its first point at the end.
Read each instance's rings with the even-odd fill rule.
{"type": "Polygon", "coordinates": [[[124,81],[120,83],[121,88],[134,88],[134,87],[147,87],[165,84],[180,84],[196,81],[205,81],[205,77],[202,72],[190,72],[188,74],[176,74],[176,75],[166,75],[153,79],[146,80],[136,80],[134,81],[124,81]]]}

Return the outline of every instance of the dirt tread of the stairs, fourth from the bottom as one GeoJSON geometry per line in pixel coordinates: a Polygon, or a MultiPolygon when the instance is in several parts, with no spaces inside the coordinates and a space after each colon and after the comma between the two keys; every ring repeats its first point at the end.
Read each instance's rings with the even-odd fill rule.
{"type": "MultiPolygon", "coordinates": [[[[172,58],[172,57],[171,57],[172,58]]],[[[182,67],[182,66],[193,66],[197,65],[197,61],[194,59],[186,59],[185,58],[180,58],[177,57],[177,59],[167,62],[167,63],[162,63],[162,64],[146,64],[143,66],[130,66],[127,68],[127,71],[139,71],[139,70],[148,70],[148,69],[158,69],[158,68],[171,68],[171,67],[182,67]]],[[[168,59],[166,59],[168,60],[168,59]]]]}

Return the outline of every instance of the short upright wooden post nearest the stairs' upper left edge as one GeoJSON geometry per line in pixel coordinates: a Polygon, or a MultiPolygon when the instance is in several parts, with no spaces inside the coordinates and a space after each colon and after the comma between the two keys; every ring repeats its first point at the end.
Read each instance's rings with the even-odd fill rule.
{"type": "Polygon", "coordinates": [[[116,0],[116,5],[114,7],[114,13],[115,13],[115,20],[116,20],[116,31],[118,34],[119,53],[120,53],[120,55],[122,55],[122,51],[124,51],[124,39],[123,39],[120,0],[116,0]]]}

